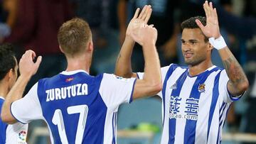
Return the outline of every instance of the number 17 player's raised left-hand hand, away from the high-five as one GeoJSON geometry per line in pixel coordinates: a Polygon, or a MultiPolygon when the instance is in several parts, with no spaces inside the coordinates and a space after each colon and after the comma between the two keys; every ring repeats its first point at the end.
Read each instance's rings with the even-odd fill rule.
{"type": "Polygon", "coordinates": [[[21,73],[21,75],[31,77],[33,76],[33,74],[36,74],[42,57],[39,56],[36,62],[33,62],[35,57],[36,53],[33,52],[33,50],[26,50],[26,52],[22,55],[21,60],[18,64],[19,72],[21,73]]]}

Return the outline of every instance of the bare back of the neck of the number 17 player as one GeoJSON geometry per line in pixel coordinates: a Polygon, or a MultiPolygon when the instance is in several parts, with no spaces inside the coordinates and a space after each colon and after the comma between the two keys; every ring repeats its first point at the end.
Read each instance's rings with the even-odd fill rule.
{"type": "Polygon", "coordinates": [[[88,72],[88,74],[90,74],[90,65],[90,57],[68,58],[68,67],[65,71],[70,72],[74,70],[85,70],[86,72],[88,72]]]}

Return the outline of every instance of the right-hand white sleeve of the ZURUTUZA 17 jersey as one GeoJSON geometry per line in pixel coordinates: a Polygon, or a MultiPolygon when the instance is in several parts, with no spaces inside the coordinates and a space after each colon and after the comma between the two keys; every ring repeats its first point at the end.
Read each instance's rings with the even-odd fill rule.
{"type": "Polygon", "coordinates": [[[100,95],[105,104],[118,107],[122,103],[132,102],[135,78],[125,79],[114,74],[103,74],[100,95]]]}

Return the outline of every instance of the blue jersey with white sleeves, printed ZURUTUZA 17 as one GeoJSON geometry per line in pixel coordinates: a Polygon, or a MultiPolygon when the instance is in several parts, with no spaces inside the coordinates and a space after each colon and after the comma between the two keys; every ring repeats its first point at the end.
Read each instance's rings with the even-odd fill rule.
{"type": "Polygon", "coordinates": [[[46,121],[52,143],[116,143],[117,110],[132,101],[134,83],[114,74],[61,72],[39,80],[11,112],[22,123],[46,121]]]}

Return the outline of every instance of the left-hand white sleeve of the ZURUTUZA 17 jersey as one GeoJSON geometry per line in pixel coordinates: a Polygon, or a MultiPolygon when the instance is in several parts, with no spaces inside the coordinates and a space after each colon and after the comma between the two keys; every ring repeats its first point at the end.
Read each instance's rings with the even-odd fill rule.
{"type": "Polygon", "coordinates": [[[38,83],[33,85],[26,96],[11,104],[11,114],[17,121],[29,123],[32,120],[43,118],[37,89],[38,83]]]}

